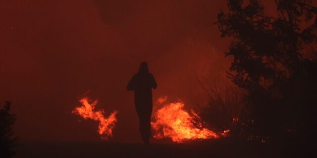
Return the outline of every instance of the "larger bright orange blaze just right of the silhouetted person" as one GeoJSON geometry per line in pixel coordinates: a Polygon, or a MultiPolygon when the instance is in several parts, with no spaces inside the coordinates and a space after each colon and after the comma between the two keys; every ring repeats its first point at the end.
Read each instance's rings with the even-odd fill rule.
{"type": "MultiPolygon", "coordinates": [[[[167,98],[159,98],[158,102],[166,101],[167,98]]],[[[186,112],[184,103],[176,102],[165,104],[155,115],[155,122],[151,122],[155,130],[154,138],[169,137],[172,141],[181,143],[184,140],[211,139],[219,136],[203,127],[201,118],[191,110],[186,112]]]]}

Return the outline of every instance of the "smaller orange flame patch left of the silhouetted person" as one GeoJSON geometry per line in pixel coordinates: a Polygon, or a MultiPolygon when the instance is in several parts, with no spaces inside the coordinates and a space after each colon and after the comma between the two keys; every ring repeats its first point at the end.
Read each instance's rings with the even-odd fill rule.
{"type": "Polygon", "coordinates": [[[104,111],[99,110],[95,111],[95,106],[98,103],[98,100],[95,100],[93,103],[88,102],[88,98],[82,98],[79,102],[82,103],[81,107],[75,108],[72,113],[83,117],[84,119],[93,119],[99,121],[98,133],[100,134],[102,139],[107,139],[108,137],[112,137],[112,129],[115,127],[115,122],[117,119],[115,115],[118,113],[114,111],[110,114],[108,118],[104,117],[104,111]]]}

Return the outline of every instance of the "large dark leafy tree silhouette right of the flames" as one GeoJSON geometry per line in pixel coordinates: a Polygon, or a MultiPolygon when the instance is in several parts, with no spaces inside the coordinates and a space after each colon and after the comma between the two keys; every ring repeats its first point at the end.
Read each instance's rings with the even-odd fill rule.
{"type": "Polygon", "coordinates": [[[228,12],[218,14],[221,36],[233,39],[228,77],[248,91],[256,134],[308,140],[317,133],[317,7],[274,2],[275,16],[264,14],[261,0],[228,0],[228,12]]]}

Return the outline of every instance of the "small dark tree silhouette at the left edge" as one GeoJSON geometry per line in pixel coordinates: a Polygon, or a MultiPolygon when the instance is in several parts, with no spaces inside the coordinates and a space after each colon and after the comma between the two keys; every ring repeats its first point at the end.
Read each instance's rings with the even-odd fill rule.
{"type": "Polygon", "coordinates": [[[13,143],[17,139],[13,136],[12,125],[15,116],[10,114],[11,102],[6,101],[3,109],[0,110],[0,157],[12,158],[15,154],[12,149],[13,143]]]}

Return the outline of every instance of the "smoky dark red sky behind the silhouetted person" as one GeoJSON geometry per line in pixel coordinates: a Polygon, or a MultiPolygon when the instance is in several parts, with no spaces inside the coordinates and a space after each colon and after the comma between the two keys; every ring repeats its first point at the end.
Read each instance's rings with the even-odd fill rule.
{"type": "Polygon", "coordinates": [[[204,84],[228,80],[225,0],[0,0],[0,102],[31,141],[98,141],[98,122],[71,114],[83,94],[117,110],[110,141],[139,141],[129,79],[147,61],[168,96],[195,108],[204,84]]]}

